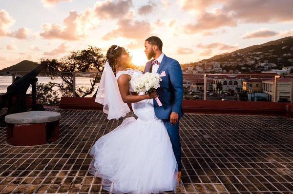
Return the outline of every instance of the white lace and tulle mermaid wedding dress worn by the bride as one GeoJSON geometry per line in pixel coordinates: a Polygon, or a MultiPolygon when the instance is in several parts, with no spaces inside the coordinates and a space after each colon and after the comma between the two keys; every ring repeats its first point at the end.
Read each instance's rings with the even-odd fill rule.
{"type": "MultiPolygon", "coordinates": [[[[127,69],[133,78],[142,72],[127,69]]],[[[130,91],[133,91],[130,81],[130,91]]],[[[103,188],[114,194],[151,194],[175,191],[178,167],[162,120],[155,116],[153,99],[132,103],[138,117],[100,137],[91,148],[90,173],[102,178],[103,188]]]]}

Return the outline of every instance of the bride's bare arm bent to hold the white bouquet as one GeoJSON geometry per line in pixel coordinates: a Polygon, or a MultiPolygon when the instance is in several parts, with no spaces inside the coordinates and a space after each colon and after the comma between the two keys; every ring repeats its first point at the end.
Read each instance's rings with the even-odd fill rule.
{"type": "Polygon", "coordinates": [[[131,79],[131,77],[129,75],[123,74],[117,80],[119,91],[120,91],[123,102],[134,103],[134,102],[142,101],[144,99],[151,99],[151,98],[157,97],[156,92],[152,93],[151,95],[140,95],[140,96],[130,95],[130,93],[129,93],[129,80],[130,79],[131,79]]]}

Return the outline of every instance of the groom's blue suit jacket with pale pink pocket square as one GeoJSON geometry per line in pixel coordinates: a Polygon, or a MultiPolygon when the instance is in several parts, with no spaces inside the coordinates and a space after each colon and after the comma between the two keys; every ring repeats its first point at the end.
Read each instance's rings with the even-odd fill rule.
{"type": "MultiPolygon", "coordinates": [[[[151,72],[151,61],[146,63],[145,73],[151,72]]],[[[159,99],[162,102],[160,107],[156,100],[154,100],[155,114],[160,119],[169,119],[171,112],[183,116],[182,99],[183,99],[183,75],[179,62],[173,58],[164,58],[157,71],[161,74],[165,71],[166,76],[161,77],[160,87],[157,89],[159,99]]]]}

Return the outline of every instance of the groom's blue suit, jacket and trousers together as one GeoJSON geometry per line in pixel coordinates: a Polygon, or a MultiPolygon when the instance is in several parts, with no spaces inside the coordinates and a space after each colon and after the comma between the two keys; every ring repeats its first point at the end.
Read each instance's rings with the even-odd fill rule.
{"type": "MultiPolygon", "coordinates": [[[[152,63],[146,63],[145,72],[151,72],[152,63]]],[[[180,64],[177,60],[168,58],[164,55],[161,64],[157,70],[158,74],[165,71],[166,76],[161,77],[160,87],[157,89],[162,106],[160,107],[154,100],[154,110],[158,118],[164,121],[170,137],[174,155],[177,160],[178,170],[181,171],[181,144],[179,137],[179,121],[171,125],[170,115],[172,112],[178,113],[179,118],[183,116],[182,99],[183,99],[183,76],[180,64]]]]}

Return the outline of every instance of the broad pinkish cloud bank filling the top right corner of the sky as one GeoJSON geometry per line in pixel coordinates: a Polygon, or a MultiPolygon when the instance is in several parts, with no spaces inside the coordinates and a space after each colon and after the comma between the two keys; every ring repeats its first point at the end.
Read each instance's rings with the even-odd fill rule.
{"type": "Polygon", "coordinates": [[[180,0],[180,2],[184,10],[197,11],[196,23],[188,23],[183,27],[187,34],[237,26],[238,23],[293,21],[293,0],[180,0]],[[212,6],[213,9],[208,12],[207,8],[212,6]]]}

